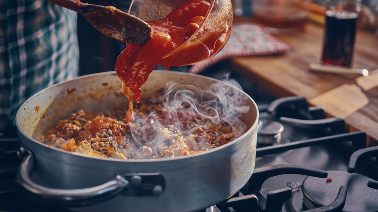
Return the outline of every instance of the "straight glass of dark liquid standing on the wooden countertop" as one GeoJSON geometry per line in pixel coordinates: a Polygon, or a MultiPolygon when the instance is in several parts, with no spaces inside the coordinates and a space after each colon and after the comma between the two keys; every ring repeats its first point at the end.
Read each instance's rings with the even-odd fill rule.
{"type": "Polygon", "coordinates": [[[350,67],[356,36],[357,13],[327,11],[322,62],[350,67]]]}

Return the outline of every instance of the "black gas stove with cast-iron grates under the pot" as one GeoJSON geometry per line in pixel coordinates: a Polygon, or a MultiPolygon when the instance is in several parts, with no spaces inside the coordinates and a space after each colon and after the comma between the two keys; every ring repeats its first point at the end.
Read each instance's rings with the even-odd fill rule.
{"type": "MultiPolygon", "coordinates": [[[[378,147],[366,148],[364,132],[347,132],[343,120],[327,118],[304,97],[256,103],[252,177],[233,197],[202,212],[378,211],[378,147]]],[[[16,137],[0,139],[0,211],[46,211],[18,191],[19,147],[16,137]]]]}

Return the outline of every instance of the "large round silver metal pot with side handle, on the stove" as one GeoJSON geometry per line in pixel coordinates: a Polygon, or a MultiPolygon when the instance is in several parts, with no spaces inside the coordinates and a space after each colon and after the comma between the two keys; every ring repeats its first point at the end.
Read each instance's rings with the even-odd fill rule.
{"type": "MultiPolygon", "coordinates": [[[[142,97],[148,98],[169,81],[202,89],[219,82],[155,70],[142,86],[142,97]]],[[[249,129],[234,141],[173,159],[117,160],[74,154],[38,141],[56,121],[78,108],[99,112],[127,107],[116,73],[82,76],[51,86],[33,95],[17,112],[19,141],[31,152],[19,167],[17,181],[32,198],[75,211],[184,212],[215,205],[240,190],[255,165],[257,106],[243,91],[234,89],[245,95],[243,104],[250,106],[242,116],[249,129]]]]}

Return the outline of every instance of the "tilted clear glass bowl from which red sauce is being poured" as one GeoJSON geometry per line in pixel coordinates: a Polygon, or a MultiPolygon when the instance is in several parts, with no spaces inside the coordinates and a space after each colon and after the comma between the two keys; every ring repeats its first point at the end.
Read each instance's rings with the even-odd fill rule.
{"type": "MultiPolygon", "coordinates": [[[[131,15],[142,20],[162,19],[174,8],[191,0],[134,0],[125,5],[131,15]],[[130,6],[131,5],[131,6],[130,6]]],[[[182,45],[175,47],[165,58],[173,66],[190,65],[214,56],[226,43],[232,28],[231,0],[207,0],[210,7],[203,24],[182,45]],[[179,61],[179,62],[178,62],[179,61]]]]}

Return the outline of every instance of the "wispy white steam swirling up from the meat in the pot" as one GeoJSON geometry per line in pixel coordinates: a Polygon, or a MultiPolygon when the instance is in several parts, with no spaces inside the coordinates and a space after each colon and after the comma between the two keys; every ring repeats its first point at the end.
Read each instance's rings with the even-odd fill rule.
{"type": "MultiPolygon", "coordinates": [[[[235,80],[226,77],[223,81],[240,88],[235,80]]],[[[246,98],[242,92],[221,82],[207,91],[169,82],[162,95],[152,100],[159,107],[147,117],[138,116],[140,110],[136,108],[135,120],[129,123],[134,140],[131,150],[139,149],[141,155],[131,155],[135,151],[127,148],[119,151],[126,157],[146,158],[145,154],[151,154],[156,158],[161,154],[173,157],[185,151],[191,154],[222,145],[228,137],[237,138],[246,132],[246,124],[239,119],[250,109],[244,105],[246,98]],[[217,130],[221,131],[218,135],[217,130]],[[217,141],[209,139],[211,136],[217,136],[217,141]]]]}

